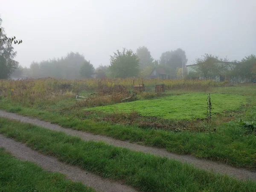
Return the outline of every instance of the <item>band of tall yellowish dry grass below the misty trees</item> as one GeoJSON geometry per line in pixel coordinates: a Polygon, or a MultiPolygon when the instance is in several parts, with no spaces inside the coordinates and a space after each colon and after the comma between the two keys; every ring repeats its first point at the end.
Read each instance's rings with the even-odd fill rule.
{"type": "MultiPolygon", "coordinates": [[[[132,90],[134,84],[144,83],[145,87],[154,87],[155,84],[165,84],[167,90],[207,90],[209,87],[224,86],[224,82],[209,80],[185,79],[26,79],[26,80],[0,80],[0,95],[11,98],[17,102],[36,100],[55,100],[74,97],[82,91],[99,91],[103,93],[109,87],[125,87],[132,90]]],[[[116,92],[115,92],[116,93],[116,92]]],[[[108,93],[106,93],[108,94],[108,93]]],[[[127,94],[125,94],[127,95],[127,94]]]]}

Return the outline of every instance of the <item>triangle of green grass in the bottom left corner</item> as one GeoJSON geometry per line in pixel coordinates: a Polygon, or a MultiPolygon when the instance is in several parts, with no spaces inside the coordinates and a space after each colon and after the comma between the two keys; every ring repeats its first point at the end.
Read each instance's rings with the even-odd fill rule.
{"type": "Polygon", "coordinates": [[[65,175],[44,171],[28,161],[17,160],[0,148],[0,192],[94,192],[65,175]]]}

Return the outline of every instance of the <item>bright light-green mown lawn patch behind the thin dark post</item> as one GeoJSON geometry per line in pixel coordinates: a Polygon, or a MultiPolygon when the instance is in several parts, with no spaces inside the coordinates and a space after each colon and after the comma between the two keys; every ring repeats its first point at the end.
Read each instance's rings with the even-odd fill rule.
{"type": "MultiPolygon", "coordinates": [[[[188,93],[176,96],[166,96],[160,99],[125,102],[88,108],[89,111],[103,111],[106,113],[137,111],[142,116],[157,116],[164,119],[204,119],[207,112],[206,93],[188,93]]],[[[238,110],[246,104],[247,97],[232,94],[211,94],[212,113],[238,110]]]]}

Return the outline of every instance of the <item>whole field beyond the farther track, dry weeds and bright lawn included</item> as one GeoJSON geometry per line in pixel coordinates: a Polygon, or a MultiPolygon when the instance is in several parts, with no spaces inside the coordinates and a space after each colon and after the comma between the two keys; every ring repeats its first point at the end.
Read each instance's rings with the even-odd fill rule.
{"type": "Polygon", "coordinates": [[[92,80],[0,81],[0,109],[65,128],[256,168],[255,84],[226,87],[210,81],[168,80],[176,88],[163,94],[138,93],[137,101],[120,103],[122,96],[131,94],[125,86],[113,80],[116,85],[99,90],[82,88],[87,81],[92,80]],[[87,101],[75,101],[77,91],[87,101]],[[212,96],[211,123],[206,119],[207,93],[212,96]]]}

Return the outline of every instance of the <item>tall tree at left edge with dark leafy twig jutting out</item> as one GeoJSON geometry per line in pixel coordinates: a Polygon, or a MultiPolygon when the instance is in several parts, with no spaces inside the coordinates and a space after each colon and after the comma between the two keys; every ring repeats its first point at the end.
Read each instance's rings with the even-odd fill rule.
{"type": "MultiPolygon", "coordinates": [[[[12,42],[16,44],[16,40],[15,37],[6,37],[1,24],[2,20],[0,18],[0,79],[7,79],[18,67],[18,62],[14,60],[17,52],[12,47],[12,42]]],[[[17,43],[20,44],[20,42],[17,43]]]]}

